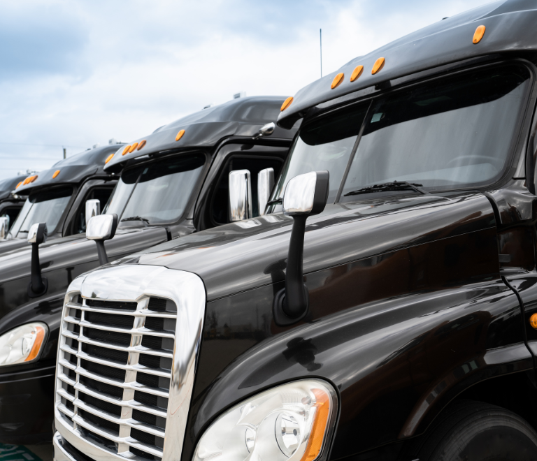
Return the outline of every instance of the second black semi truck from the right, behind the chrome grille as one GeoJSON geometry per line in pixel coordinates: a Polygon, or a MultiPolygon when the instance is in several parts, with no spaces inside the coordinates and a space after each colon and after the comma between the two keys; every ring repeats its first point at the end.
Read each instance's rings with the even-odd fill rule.
{"type": "MultiPolygon", "coordinates": [[[[234,219],[257,216],[258,186],[267,189],[258,184],[264,177],[259,173],[278,175],[296,133],[274,126],[283,101],[279,96],[229,101],[109,154],[104,173],[115,172],[117,185],[103,212],[115,216],[117,231],[108,234],[113,238],[106,242],[105,257],[115,261],[228,223],[232,211],[234,219]],[[233,210],[230,173],[238,182],[242,178],[250,193],[233,210]]],[[[31,245],[0,256],[0,395],[8,402],[0,413],[3,443],[52,439],[65,292],[78,275],[100,265],[99,247],[85,238],[89,232],[43,242],[44,228],[45,222],[36,222],[24,229],[31,245]]]]}

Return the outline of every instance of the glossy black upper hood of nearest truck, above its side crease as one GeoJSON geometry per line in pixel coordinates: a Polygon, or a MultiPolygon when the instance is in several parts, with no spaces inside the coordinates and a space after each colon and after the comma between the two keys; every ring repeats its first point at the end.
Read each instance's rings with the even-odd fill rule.
{"type": "MultiPolygon", "coordinates": [[[[492,205],[477,192],[328,205],[307,221],[304,274],[495,225],[492,205]]],[[[187,235],[116,263],[194,272],[212,301],[284,280],[291,229],[292,218],[269,214],[187,235]]]]}

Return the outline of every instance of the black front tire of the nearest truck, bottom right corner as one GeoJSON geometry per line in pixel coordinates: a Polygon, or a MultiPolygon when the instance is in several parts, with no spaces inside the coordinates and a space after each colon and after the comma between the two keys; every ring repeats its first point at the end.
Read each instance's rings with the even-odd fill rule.
{"type": "Polygon", "coordinates": [[[410,451],[420,461],[537,461],[537,432],[512,411],[462,400],[410,451]]]}

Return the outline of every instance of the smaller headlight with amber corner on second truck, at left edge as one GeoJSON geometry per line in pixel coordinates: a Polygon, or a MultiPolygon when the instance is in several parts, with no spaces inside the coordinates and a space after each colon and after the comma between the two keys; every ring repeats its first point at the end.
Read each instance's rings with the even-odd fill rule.
{"type": "Polygon", "coordinates": [[[31,362],[38,358],[48,328],[33,322],[13,328],[0,336],[0,366],[31,362]]]}

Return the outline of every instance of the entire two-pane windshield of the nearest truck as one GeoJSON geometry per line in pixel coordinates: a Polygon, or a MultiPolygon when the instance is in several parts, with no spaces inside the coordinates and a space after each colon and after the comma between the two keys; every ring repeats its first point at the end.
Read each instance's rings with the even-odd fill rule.
{"type": "Polygon", "coordinates": [[[337,199],[342,181],[341,200],[348,201],[357,199],[353,191],[394,181],[434,191],[499,180],[517,134],[529,78],[520,65],[468,71],[305,124],[272,199],[281,198],[292,177],[315,170],[330,172],[328,203],[337,199]]]}

